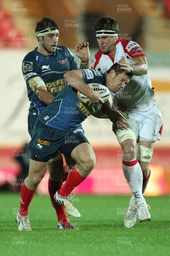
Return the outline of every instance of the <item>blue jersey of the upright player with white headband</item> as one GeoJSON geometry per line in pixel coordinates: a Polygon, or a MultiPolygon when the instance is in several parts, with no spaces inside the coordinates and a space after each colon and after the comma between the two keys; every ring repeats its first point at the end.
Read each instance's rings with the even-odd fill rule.
{"type": "Polygon", "coordinates": [[[70,50],[64,46],[58,46],[56,53],[45,56],[34,49],[23,59],[22,71],[26,81],[28,98],[31,102],[29,111],[37,115],[46,108],[46,104],[33,93],[29,87],[28,81],[35,76],[40,76],[45,82],[48,92],[56,96],[63,88],[67,86],[63,75],[69,70],[78,68],[76,61],[70,50]]]}

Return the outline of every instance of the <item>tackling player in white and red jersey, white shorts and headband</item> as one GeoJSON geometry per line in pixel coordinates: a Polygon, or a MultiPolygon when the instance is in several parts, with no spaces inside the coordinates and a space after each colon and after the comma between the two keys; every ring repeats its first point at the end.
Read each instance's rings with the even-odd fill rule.
{"type": "MultiPolygon", "coordinates": [[[[105,73],[118,62],[126,73],[133,74],[130,82],[117,93],[111,93],[112,108],[124,112],[128,125],[120,128],[113,124],[113,131],[124,152],[122,167],[132,192],[125,215],[125,227],[131,228],[139,221],[150,221],[150,207],[144,199],[144,191],[150,177],[150,160],[156,140],[160,140],[162,115],[154,98],[154,88],[147,70],[147,59],[139,44],[119,38],[119,27],[114,18],[100,18],[94,25],[99,51],[94,55],[91,67],[105,73]]],[[[108,103],[102,107],[109,116],[108,103]]]]}

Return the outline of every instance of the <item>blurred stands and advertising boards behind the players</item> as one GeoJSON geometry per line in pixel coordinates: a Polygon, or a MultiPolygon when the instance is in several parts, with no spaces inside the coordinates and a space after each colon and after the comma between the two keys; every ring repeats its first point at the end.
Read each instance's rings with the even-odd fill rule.
{"type": "MultiPolygon", "coordinates": [[[[98,50],[94,23],[102,16],[114,17],[119,36],[136,41],[147,55],[156,101],[164,128],[155,144],[151,178],[146,195],[170,193],[170,1],[169,0],[1,0],[0,1],[0,189],[20,190],[28,174],[26,145],[29,102],[21,65],[25,55],[38,46],[35,26],[48,16],[59,25],[59,43],[75,56],[75,46],[88,41],[91,58],[98,50]]],[[[74,192],[130,195],[122,172],[123,152],[109,120],[90,116],[83,122],[85,135],[96,154],[96,167],[74,192]]],[[[48,173],[37,193],[48,194],[48,173]]]]}

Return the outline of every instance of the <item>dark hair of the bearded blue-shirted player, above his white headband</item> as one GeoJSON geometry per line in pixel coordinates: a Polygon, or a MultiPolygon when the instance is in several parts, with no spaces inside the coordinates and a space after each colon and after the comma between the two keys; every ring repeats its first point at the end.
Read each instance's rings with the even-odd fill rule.
{"type": "MultiPolygon", "coordinates": [[[[36,25],[36,28],[35,28],[35,32],[37,33],[39,31],[45,30],[47,28],[49,28],[49,29],[53,29],[53,28],[59,29],[59,26],[51,18],[44,17],[44,18],[42,18],[42,20],[37,22],[37,25],[36,25]]],[[[38,37],[37,37],[37,40],[38,40],[38,37]]]]}

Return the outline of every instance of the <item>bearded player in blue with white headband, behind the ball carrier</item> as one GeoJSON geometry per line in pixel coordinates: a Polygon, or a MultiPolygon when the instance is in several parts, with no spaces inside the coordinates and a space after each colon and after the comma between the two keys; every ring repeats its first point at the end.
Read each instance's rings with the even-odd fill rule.
{"type": "MultiPolygon", "coordinates": [[[[54,97],[63,88],[67,82],[63,75],[68,70],[78,68],[76,61],[70,50],[65,46],[57,46],[59,39],[59,26],[49,17],[44,17],[37,22],[35,29],[37,40],[39,42],[32,52],[29,52],[23,59],[22,70],[26,81],[28,98],[31,102],[28,114],[28,132],[32,137],[32,130],[37,116],[46,108],[54,97]]],[[[89,49],[88,43],[79,43],[76,45],[76,54],[81,59],[81,68],[88,67],[89,49]]],[[[71,159],[66,159],[69,166],[74,164],[71,159]]],[[[62,186],[63,180],[63,161],[59,151],[55,152],[48,161],[48,170],[50,177],[48,180],[48,191],[51,202],[56,210],[59,229],[72,229],[64,207],[54,204],[54,194],[62,186]]],[[[35,175],[36,176],[36,175],[35,175]]],[[[32,187],[31,187],[32,189],[32,187]]],[[[23,211],[23,205],[27,204],[27,195],[34,196],[34,192],[27,188],[25,182],[21,186],[21,205],[18,218],[25,218],[26,211],[23,211]]]]}

